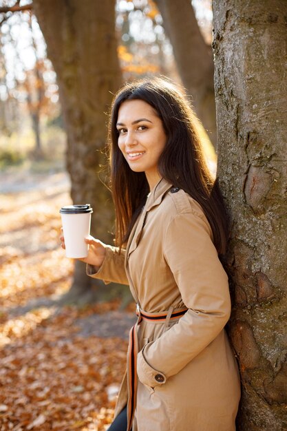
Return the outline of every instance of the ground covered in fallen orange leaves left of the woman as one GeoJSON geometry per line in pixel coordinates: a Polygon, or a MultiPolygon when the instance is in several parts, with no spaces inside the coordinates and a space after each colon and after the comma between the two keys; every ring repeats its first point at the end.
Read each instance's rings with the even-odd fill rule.
{"type": "Polygon", "coordinates": [[[0,431],[107,430],[134,317],[116,301],[53,302],[72,280],[73,262],[59,247],[67,177],[1,176],[0,431]],[[119,322],[120,337],[105,333],[105,315],[119,322]]]}

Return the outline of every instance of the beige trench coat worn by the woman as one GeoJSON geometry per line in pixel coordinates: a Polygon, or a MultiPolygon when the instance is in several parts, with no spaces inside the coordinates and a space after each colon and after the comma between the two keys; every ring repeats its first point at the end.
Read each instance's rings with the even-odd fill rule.
{"type": "MultiPolygon", "coordinates": [[[[107,246],[98,272],[87,266],[87,273],[129,284],[145,312],[188,308],[176,321],[138,325],[133,431],[235,430],[240,378],[224,330],[231,312],[228,280],[198,202],[160,180],[127,249],[118,254],[107,246]]],[[[129,358],[116,414],[128,402],[127,375],[129,358]]]]}

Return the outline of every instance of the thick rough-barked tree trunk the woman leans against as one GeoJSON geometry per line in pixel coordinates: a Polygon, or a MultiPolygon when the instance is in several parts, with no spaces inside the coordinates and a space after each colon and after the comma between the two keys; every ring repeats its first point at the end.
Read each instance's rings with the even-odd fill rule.
{"type": "Polygon", "coordinates": [[[287,430],[285,0],[213,0],[220,185],[240,362],[238,430],[287,430]]]}

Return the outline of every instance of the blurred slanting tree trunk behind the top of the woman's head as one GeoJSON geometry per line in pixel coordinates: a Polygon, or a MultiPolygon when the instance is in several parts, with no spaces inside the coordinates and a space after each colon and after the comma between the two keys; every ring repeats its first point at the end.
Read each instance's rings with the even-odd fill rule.
{"type": "Polygon", "coordinates": [[[213,56],[195,18],[191,0],[155,0],[173,46],[178,71],[193,106],[216,147],[213,56]]]}

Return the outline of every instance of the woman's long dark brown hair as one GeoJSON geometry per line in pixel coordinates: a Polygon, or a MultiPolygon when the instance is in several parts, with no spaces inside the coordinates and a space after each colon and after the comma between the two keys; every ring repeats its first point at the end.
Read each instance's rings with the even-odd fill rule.
{"type": "Polygon", "coordinates": [[[116,122],[120,105],[145,101],[162,120],[167,143],[158,160],[158,171],[174,187],[183,189],[202,207],[218,253],[226,249],[227,219],[217,180],[206,167],[195,114],[181,88],[167,78],[146,78],[127,83],[114,97],[109,120],[111,193],[116,209],[116,244],[123,246],[145,204],[149,185],[144,172],[129,168],[118,148],[116,122]]]}

